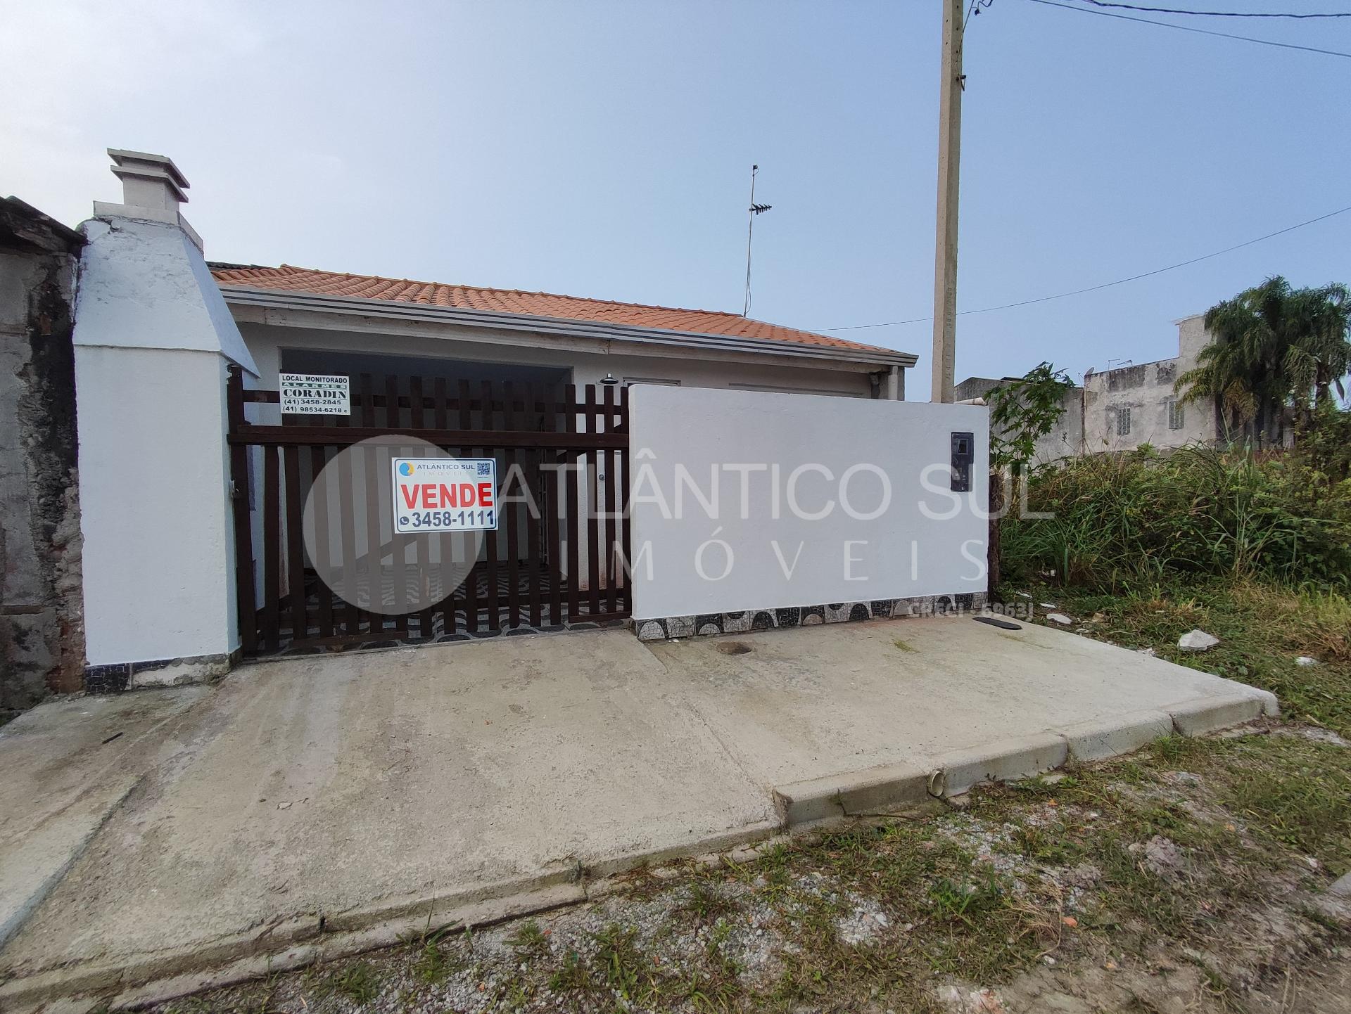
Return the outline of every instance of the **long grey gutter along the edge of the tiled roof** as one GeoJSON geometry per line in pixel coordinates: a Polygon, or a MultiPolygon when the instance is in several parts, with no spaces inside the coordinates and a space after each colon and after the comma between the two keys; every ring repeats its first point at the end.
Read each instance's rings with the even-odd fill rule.
{"type": "Polygon", "coordinates": [[[828,359],[832,362],[866,363],[873,366],[915,366],[913,352],[893,352],[886,348],[836,348],[811,346],[781,339],[740,338],[736,335],[708,335],[697,331],[667,331],[628,324],[604,324],[571,317],[543,317],[531,313],[501,313],[497,311],[436,306],[424,302],[396,302],[369,300],[357,296],[319,296],[316,293],[258,289],[242,285],[222,285],[220,293],[231,306],[262,306],[265,309],[293,309],[339,316],[376,316],[393,320],[458,324],[461,327],[494,328],[505,331],[532,331],[569,338],[596,338],[630,344],[678,346],[720,351],[759,352],[793,359],[828,359]]]}

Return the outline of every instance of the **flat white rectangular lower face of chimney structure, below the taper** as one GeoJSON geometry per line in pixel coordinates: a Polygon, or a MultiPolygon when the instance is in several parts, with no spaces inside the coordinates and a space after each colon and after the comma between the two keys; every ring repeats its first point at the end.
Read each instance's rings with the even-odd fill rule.
{"type": "Polygon", "coordinates": [[[76,347],[91,666],[238,647],[226,361],[76,347]]]}

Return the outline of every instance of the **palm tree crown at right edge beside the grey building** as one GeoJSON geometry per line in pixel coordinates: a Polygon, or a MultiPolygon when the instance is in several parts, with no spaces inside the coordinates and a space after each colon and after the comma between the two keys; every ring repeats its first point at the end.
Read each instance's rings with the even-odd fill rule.
{"type": "Polygon", "coordinates": [[[1178,377],[1182,401],[1215,400],[1228,433],[1258,443],[1278,437],[1288,406],[1329,397],[1351,369],[1351,294],[1344,285],[1292,289],[1281,275],[1246,289],[1205,313],[1212,342],[1178,377]]]}

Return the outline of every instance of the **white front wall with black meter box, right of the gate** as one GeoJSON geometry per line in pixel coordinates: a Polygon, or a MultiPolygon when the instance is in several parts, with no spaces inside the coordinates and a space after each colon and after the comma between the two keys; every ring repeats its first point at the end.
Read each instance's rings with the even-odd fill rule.
{"type": "Polygon", "coordinates": [[[632,389],[630,412],[632,548],[639,559],[646,544],[651,559],[650,574],[646,560],[634,567],[635,618],[985,591],[984,406],[646,385],[632,389]],[[974,433],[969,494],[948,489],[954,431],[974,433]],[[766,466],[746,473],[746,497],[740,466],[766,466]],[[819,520],[792,509],[801,466],[831,475],[802,471],[793,490],[804,514],[825,512],[819,520]],[[882,505],[882,479],[867,466],[885,473],[892,496],[885,513],[862,520],[882,505]],[[861,517],[840,504],[851,469],[846,497],[861,517]],[[921,485],[927,469],[935,490],[921,485]],[[682,470],[712,510],[688,485],[678,509],[682,470]],[[700,547],[712,539],[732,555],[720,578],[720,545],[705,547],[700,574],[700,547]]]}

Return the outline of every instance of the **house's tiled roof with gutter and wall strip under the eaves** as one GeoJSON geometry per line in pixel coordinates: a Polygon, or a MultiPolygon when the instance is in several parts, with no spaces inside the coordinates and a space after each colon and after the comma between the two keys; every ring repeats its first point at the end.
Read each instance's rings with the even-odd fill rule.
{"type": "Polygon", "coordinates": [[[902,400],[905,370],[916,359],[717,311],[290,265],[211,263],[211,270],[262,388],[276,388],[280,371],[578,388],[608,377],[902,400]]]}

